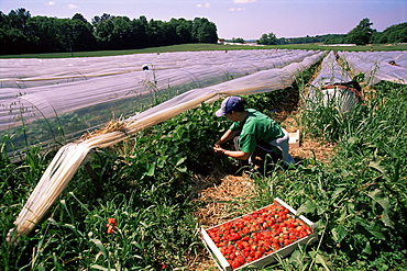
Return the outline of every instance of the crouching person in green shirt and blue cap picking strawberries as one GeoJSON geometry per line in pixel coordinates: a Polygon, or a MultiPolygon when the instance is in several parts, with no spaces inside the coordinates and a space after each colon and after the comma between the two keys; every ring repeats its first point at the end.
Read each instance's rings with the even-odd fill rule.
{"type": "Polygon", "coordinates": [[[263,167],[264,161],[256,161],[256,157],[265,159],[270,155],[273,162],[282,160],[286,166],[294,163],[288,154],[289,134],[273,118],[254,110],[244,109],[245,100],[240,97],[228,97],[216,112],[218,117],[224,115],[233,124],[215,144],[213,150],[241,160],[241,166],[263,167]],[[222,144],[233,139],[235,150],[227,150],[222,144]]]}

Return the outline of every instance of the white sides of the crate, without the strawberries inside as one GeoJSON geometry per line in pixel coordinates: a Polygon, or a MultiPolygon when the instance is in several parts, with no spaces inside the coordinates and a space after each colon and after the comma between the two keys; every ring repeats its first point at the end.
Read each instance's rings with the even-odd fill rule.
{"type": "MultiPolygon", "coordinates": [[[[286,207],[289,213],[292,215],[295,215],[297,214],[297,211],[294,210],[292,206],[289,206],[288,204],[286,204],[284,201],[282,201],[280,199],[276,197],[274,199],[274,201],[276,203],[279,203],[280,205],[283,205],[284,207],[286,207]]],[[[267,207],[267,206],[265,206],[267,207]]],[[[255,212],[255,211],[254,211],[255,212]]],[[[253,212],[252,212],[253,213],[253,212]]],[[[250,213],[250,214],[252,214],[250,213]]],[[[248,214],[249,215],[249,214],[248,214]]],[[[242,217],[242,216],[241,216],[242,217]]],[[[238,217],[239,218],[239,217],[238,217]]],[[[299,245],[311,245],[312,242],[315,242],[317,239],[318,239],[318,233],[317,233],[317,226],[310,222],[308,218],[306,218],[305,216],[300,215],[298,216],[297,218],[299,218],[300,221],[302,221],[310,229],[311,229],[311,234],[304,237],[304,238],[300,238],[298,239],[297,241],[288,245],[288,246],[285,246],[276,251],[273,251],[272,253],[270,255],[266,255],[257,260],[254,260],[254,261],[251,261],[251,262],[248,262],[239,268],[235,268],[233,269],[231,267],[231,264],[228,262],[228,260],[223,257],[222,252],[219,250],[219,248],[216,246],[216,244],[213,242],[213,240],[211,239],[211,237],[208,235],[207,230],[210,230],[212,228],[216,228],[216,227],[219,227],[223,224],[227,224],[227,223],[223,223],[223,224],[220,224],[220,225],[217,225],[215,227],[211,227],[211,228],[208,228],[208,229],[205,229],[201,227],[201,239],[202,239],[202,242],[204,245],[206,246],[206,248],[208,249],[209,251],[209,255],[212,257],[215,263],[218,266],[218,268],[222,271],[232,271],[232,270],[240,270],[242,268],[256,268],[256,269],[262,269],[264,268],[265,266],[270,264],[270,263],[273,263],[275,262],[279,257],[286,257],[288,256],[289,253],[292,253],[299,245]],[[277,256],[278,255],[278,256],[277,256]]],[[[237,218],[235,218],[237,219],[237,218]]],[[[234,219],[233,219],[234,221],[234,219]]]]}

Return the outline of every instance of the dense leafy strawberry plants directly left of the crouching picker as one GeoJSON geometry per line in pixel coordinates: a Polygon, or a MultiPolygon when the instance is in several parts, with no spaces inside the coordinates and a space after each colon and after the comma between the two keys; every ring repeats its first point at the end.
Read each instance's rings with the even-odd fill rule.
{"type": "Polygon", "coordinates": [[[180,180],[190,170],[209,173],[213,157],[218,158],[211,151],[213,143],[228,127],[224,118],[217,118],[213,114],[218,106],[218,103],[202,103],[198,109],[141,132],[132,138],[134,143],[127,143],[134,146],[131,153],[138,154],[136,157],[129,158],[124,151],[123,159],[143,165],[140,178],[175,179],[174,170],[180,180]]]}

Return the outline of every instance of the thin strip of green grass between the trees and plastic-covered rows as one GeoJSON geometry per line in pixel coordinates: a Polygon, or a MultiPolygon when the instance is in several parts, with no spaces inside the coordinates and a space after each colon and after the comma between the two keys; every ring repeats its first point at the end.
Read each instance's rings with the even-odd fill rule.
{"type": "MultiPolygon", "coordinates": [[[[197,50],[234,50],[234,49],[314,49],[314,50],[407,50],[407,44],[400,45],[360,45],[360,46],[322,46],[321,44],[288,44],[288,45],[267,45],[267,46],[241,46],[241,45],[220,45],[220,44],[179,44],[162,47],[148,47],[142,49],[129,50],[95,50],[95,52],[75,52],[74,57],[99,57],[99,56],[118,56],[146,53],[170,53],[170,52],[197,52],[197,50]]],[[[69,58],[70,53],[48,53],[48,54],[22,54],[22,55],[3,55],[1,58],[69,58]]]]}

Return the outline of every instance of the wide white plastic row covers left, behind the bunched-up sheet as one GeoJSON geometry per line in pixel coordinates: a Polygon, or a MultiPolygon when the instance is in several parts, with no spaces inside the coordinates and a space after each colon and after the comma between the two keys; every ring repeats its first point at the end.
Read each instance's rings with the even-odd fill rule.
{"type": "MultiPolygon", "coordinates": [[[[0,60],[0,136],[12,148],[72,140],[158,101],[264,70],[311,50],[231,50],[0,60]],[[147,65],[148,71],[142,66],[147,65]]],[[[290,66],[299,69],[299,64],[290,66]]],[[[258,79],[262,80],[262,79],[258,79]]],[[[285,78],[280,79],[286,80],[285,78]]]]}

